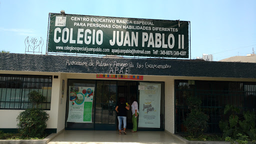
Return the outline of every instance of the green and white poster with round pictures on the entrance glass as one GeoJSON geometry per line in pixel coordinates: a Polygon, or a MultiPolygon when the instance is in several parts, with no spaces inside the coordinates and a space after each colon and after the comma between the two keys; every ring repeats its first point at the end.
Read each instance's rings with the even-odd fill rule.
{"type": "Polygon", "coordinates": [[[67,122],[90,123],[94,87],[69,86],[67,122]]]}

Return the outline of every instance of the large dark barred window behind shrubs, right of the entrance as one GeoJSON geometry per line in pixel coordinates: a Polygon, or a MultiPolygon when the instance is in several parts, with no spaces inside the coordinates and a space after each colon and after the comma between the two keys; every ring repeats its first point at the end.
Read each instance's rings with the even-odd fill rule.
{"type": "Polygon", "coordinates": [[[186,131],[183,120],[190,112],[187,105],[188,96],[201,99],[202,111],[208,115],[208,133],[220,133],[220,119],[226,104],[240,108],[240,111],[255,111],[256,82],[175,80],[175,132],[186,131]]]}

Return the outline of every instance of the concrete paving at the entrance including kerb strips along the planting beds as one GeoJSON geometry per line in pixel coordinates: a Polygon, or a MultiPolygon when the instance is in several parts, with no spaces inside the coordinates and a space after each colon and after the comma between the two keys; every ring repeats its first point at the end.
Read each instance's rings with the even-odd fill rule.
{"type": "Polygon", "coordinates": [[[119,135],[116,130],[63,130],[59,133],[51,133],[44,139],[38,140],[2,140],[0,143],[8,144],[110,144],[110,143],[127,143],[127,144],[227,144],[225,141],[189,141],[179,135],[165,131],[137,131],[119,135]]]}

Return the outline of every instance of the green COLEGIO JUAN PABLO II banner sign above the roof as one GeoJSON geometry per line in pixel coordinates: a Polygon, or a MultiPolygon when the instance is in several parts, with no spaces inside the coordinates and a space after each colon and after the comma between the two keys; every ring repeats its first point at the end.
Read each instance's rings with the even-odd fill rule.
{"type": "Polygon", "coordinates": [[[50,13],[48,52],[188,58],[188,21],[50,13]]]}

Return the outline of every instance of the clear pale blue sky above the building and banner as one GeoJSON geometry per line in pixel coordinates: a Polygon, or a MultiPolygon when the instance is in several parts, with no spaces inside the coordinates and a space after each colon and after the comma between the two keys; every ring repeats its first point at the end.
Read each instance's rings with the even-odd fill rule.
{"type": "Polygon", "coordinates": [[[256,0],[0,0],[0,50],[25,53],[25,38],[42,37],[48,14],[190,21],[191,59],[218,61],[256,51],[256,0]]]}

